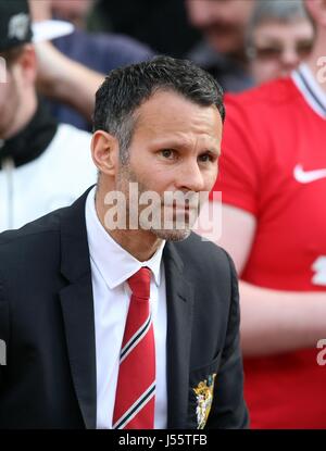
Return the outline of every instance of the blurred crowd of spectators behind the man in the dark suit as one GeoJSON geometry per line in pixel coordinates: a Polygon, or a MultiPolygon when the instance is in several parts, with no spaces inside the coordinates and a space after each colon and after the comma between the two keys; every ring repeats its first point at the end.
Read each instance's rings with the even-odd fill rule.
{"type": "Polygon", "coordinates": [[[326,89],[316,76],[326,1],[30,0],[29,8],[35,40],[23,46],[7,39],[0,18],[0,229],[67,205],[96,183],[88,149],[105,74],[156,54],[195,61],[226,92],[216,242],[240,278],[252,427],[326,427],[315,349],[326,330],[326,178],[304,178],[326,171],[326,89]],[[50,21],[74,30],[55,32],[50,21]]]}

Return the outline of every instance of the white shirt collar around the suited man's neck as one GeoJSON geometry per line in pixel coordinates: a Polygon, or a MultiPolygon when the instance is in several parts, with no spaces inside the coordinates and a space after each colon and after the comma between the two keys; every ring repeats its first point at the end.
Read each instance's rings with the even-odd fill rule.
{"type": "Polygon", "coordinates": [[[89,191],[85,206],[89,254],[109,288],[117,287],[143,266],[152,271],[154,281],[160,286],[161,261],[165,241],[161,243],[150,260],[139,262],[114,241],[100,223],[95,205],[95,195],[96,187],[89,191]]]}

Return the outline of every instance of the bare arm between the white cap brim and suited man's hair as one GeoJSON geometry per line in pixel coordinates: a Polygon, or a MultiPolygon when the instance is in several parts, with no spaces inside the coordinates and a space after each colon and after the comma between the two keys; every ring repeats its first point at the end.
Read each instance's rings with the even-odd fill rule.
{"type": "Polygon", "coordinates": [[[76,109],[91,122],[95,95],[104,75],[70,60],[50,42],[35,45],[38,59],[37,87],[45,96],[76,109]]]}

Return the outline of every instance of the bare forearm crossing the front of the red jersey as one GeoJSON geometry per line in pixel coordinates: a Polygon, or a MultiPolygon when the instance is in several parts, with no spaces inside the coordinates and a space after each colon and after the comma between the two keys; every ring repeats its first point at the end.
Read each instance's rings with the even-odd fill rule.
{"type": "Polygon", "coordinates": [[[325,337],[325,293],[278,291],[241,281],[240,297],[246,355],[316,348],[325,337]]]}

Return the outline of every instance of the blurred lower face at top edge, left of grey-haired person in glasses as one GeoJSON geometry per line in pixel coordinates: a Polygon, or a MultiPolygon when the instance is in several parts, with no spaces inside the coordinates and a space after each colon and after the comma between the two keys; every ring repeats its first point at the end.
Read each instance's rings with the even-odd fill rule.
{"type": "Polygon", "coordinates": [[[187,0],[190,23],[220,53],[242,51],[244,28],[256,0],[187,0]]]}

